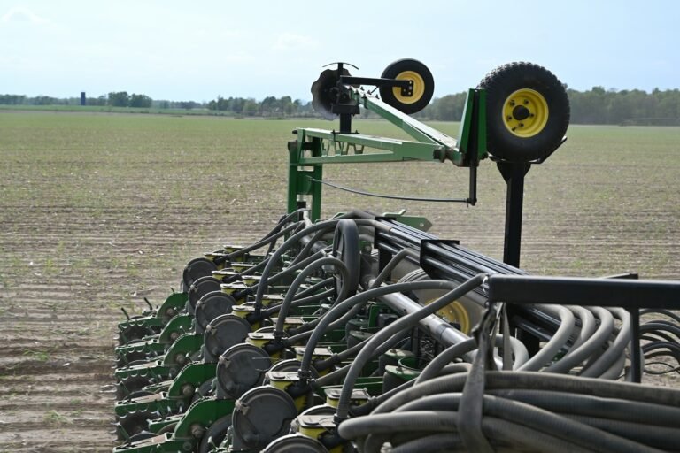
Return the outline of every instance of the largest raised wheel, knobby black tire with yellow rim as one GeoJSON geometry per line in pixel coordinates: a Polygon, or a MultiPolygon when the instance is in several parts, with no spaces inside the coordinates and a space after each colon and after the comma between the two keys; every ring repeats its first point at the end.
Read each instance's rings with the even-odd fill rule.
{"type": "Polygon", "coordinates": [[[478,88],[486,91],[487,150],[492,156],[530,162],[550,155],[560,146],[569,126],[569,100],[553,73],[531,63],[510,63],[487,74],[478,88]],[[532,103],[518,95],[518,101],[523,101],[515,105],[517,93],[540,96],[537,103],[532,103]],[[545,105],[545,112],[533,104],[545,105]]]}

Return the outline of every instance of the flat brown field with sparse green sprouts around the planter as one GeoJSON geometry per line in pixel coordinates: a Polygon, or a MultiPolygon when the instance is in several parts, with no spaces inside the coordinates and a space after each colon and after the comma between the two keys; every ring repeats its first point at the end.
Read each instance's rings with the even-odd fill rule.
{"type": "MultiPolygon", "coordinates": [[[[285,142],[298,124],[0,117],[0,450],[109,451],[120,307],[132,314],[143,297],[161,303],[190,258],[273,226],[285,206],[285,142]]],[[[680,130],[649,130],[574,127],[553,162],[532,169],[522,249],[530,272],[680,280],[680,130]],[[593,152],[611,142],[607,155],[593,152]],[[647,154],[635,160],[643,145],[647,154]]],[[[406,205],[441,237],[500,258],[504,188],[493,165],[483,165],[475,208],[328,191],[324,211],[406,205]]],[[[325,176],[421,196],[455,196],[467,183],[460,171],[431,165],[385,168],[352,165],[325,176]]],[[[663,384],[680,385],[676,375],[663,384]]]]}

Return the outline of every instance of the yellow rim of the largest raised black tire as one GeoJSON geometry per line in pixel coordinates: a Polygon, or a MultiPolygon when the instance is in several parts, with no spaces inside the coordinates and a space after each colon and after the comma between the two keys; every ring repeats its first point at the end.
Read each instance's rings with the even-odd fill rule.
{"type": "Polygon", "coordinates": [[[522,88],[503,103],[503,124],[511,134],[528,138],[539,134],[548,122],[548,103],[534,89],[522,88]]]}

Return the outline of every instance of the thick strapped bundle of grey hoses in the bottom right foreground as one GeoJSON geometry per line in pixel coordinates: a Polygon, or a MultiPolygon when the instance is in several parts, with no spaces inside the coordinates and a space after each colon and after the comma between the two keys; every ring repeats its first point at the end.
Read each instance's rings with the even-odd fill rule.
{"type": "MultiPolygon", "coordinates": [[[[469,374],[417,383],[338,426],[364,453],[483,451],[466,445],[469,374]]],[[[680,438],[680,390],[545,372],[486,372],[481,433],[491,451],[668,451],[680,438]]],[[[468,429],[469,431],[469,429],[468,429]]]]}

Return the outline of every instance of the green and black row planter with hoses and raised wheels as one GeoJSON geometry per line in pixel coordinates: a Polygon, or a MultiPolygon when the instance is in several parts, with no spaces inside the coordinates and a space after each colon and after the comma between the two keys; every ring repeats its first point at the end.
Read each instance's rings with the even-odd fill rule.
{"type": "Polygon", "coordinates": [[[520,268],[525,175],[568,128],[560,81],[501,66],[452,138],[409,116],[433,95],[425,65],[335,65],[312,94],[339,125],[293,131],[274,228],[192,259],[180,292],[119,324],[113,451],[676,450],[680,389],[640,381],[652,362],[677,369],[680,282],[520,268]],[[353,130],[362,111],[411,140],[353,130]],[[448,161],[467,194],[422,200],[475,205],[485,160],[507,186],[503,261],[405,211],[321,218],[324,185],[353,190],[324,165],[448,161]]]}

